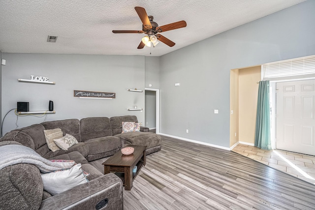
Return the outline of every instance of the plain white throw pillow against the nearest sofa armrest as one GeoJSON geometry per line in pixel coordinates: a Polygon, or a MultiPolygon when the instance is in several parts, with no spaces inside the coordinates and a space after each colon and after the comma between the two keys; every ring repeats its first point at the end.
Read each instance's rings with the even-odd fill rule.
{"type": "Polygon", "coordinates": [[[81,163],[70,169],[41,174],[41,179],[43,180],[44,190],[53,196],[89,182],[83,174],[81,163]]]}

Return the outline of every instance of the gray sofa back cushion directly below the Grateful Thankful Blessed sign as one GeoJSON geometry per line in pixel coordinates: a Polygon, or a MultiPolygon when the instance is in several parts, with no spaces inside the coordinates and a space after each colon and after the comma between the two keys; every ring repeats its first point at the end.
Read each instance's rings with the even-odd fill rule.
{"type": "Polygon", "coordinates": [[[80,120],[81,139],[87,141],[98,137],[112,136],[109,118],[95,117],[80,120]]]}

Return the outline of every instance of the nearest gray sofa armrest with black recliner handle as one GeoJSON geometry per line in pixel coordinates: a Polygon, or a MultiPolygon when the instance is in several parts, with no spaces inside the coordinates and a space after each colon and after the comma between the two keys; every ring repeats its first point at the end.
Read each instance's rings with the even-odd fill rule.
{"type": "Polygon", "coordinates": [[[95,210],[97,203],[108,199],[101,210],[123,210],[123,182],[115,174],[106,174],[43,200],[42,210],[95,210]]]}

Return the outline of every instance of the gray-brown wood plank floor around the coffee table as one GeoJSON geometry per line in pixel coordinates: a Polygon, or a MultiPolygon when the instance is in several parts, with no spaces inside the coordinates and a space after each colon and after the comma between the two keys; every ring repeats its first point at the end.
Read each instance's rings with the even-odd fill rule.
{"type": "MultiPolygon", "coordinates": [[[[165,136],[124,190],[124,210],[315,209],[315,186],[233,151],[165,136]]],[[[107,158],[93,161],[99,171],[107,158]]]]}

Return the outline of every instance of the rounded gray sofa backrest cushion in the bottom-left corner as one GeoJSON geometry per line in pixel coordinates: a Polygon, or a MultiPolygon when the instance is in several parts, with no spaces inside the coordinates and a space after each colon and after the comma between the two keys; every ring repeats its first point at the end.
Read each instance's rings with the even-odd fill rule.
{"type": "Polygon", "coordinates": [[[1,169],[0,189],[0,206],[4,209],[38,210],[40,207],[43,182],[39,169],[32,164],[1,169]]]}

